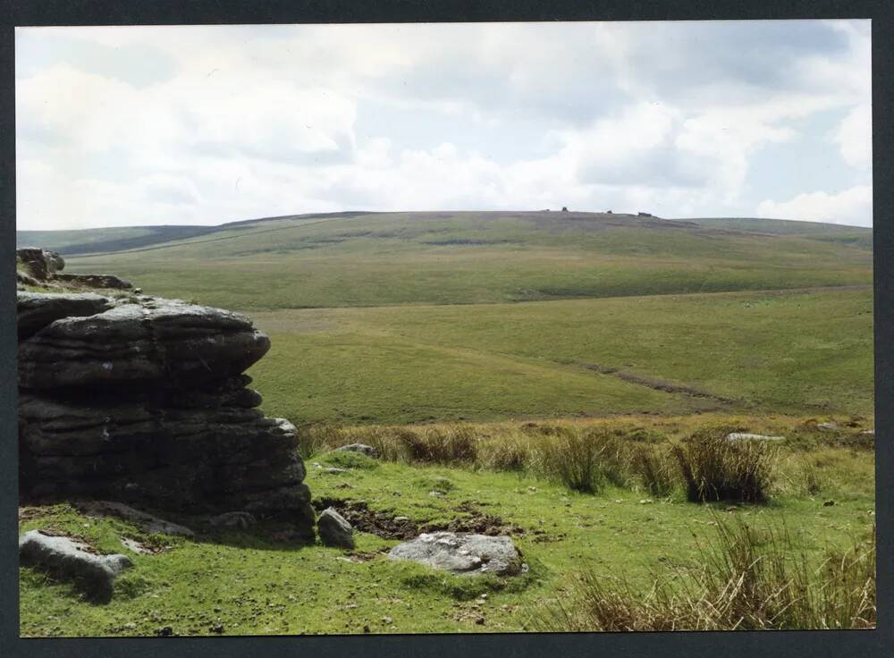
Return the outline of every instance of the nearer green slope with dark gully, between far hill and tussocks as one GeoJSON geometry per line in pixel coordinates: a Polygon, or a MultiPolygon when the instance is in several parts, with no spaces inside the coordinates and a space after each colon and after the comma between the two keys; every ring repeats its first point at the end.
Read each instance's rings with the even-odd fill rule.
{"type": "Polygon", "coordinates": [[[250,374],[264,409],[294,422],[871,415],[872,303],[867,290],[257,313],[273,347],[250,374]]]}

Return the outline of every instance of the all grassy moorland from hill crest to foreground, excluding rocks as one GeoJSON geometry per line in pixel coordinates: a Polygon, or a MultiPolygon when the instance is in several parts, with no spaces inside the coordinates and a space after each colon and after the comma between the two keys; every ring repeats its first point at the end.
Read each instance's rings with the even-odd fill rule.
{"type": "Polygon", "coordinates": [[[682,590],[672,605],[654,596],[667,574],[696,578],[724,537],[805,567],[803,591],[820,591],[835,556],[850,569],[834,601],[735,628],[874,623],[855,603],[874,551],[869,229],[338,213],[18,240],[59,251],[72,273],[250,316],[272,341],[249,371],[264,411],[299,427],[316,501],[350,510],[358,530],[350,553],[294,550],[249,531],[159,540],[68,505],[25,508],[22,530],[157,550],[133,555],[139,569],[105,606],[23,569],[23,635],[730,628],[729,615],[687,613],[682,590]],[[686,446],[730,432],[786,437],[734,455],[759,500],[693,500],[685,465],[700,457],[686,446]],[[329,451],[355,442],[381,459],[329,451]],[[463,578],[388,561],[394,517],[510,533],[529,569],[463,578]],[[623,587],[594,585],[611,578],[623,587]]]}

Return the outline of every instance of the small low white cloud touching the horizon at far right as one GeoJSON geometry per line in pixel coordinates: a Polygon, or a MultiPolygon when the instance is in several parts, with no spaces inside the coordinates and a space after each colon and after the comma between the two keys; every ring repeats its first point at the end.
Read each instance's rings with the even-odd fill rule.
{"type": "Polygon", "coordinates": [[[757,215],[774,219],[872,226],[873,190],[868,185],[856,185],[833,194],[819,191],[798,194],[783,202],[767,200],[757,207],[757,215]]]}

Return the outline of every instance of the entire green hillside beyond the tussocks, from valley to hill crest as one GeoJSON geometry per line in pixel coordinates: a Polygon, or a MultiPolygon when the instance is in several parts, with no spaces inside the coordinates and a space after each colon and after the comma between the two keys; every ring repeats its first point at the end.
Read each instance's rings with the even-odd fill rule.
{"type": "Polygon", "coordinates": [[[274,338],[253,371],[266,409],[298,421],[670,413],[718,404],[586,364],[763,408],[871,413],[868,290],[647,297],[868,286],[872,252],[826,238],[871,232],[697,222],[721,228],[586,213],[314,215],[70,257],[68,269],[121,274],[156,294],[249,312],[274,338]],[[579,299],[604,297],[620,299],[579,299]],[[378,308],[294,310],[308,307],[378,308]]]}

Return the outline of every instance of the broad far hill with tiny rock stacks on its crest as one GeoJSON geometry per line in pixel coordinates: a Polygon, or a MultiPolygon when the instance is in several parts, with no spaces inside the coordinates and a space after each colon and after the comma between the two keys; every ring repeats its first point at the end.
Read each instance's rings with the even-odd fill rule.
{"type": "Polygon", "coordinates": [[[393,213],[253,224],[68,269],[255,312],[869,284],[872,254],[623,215],[393,213]]]}

